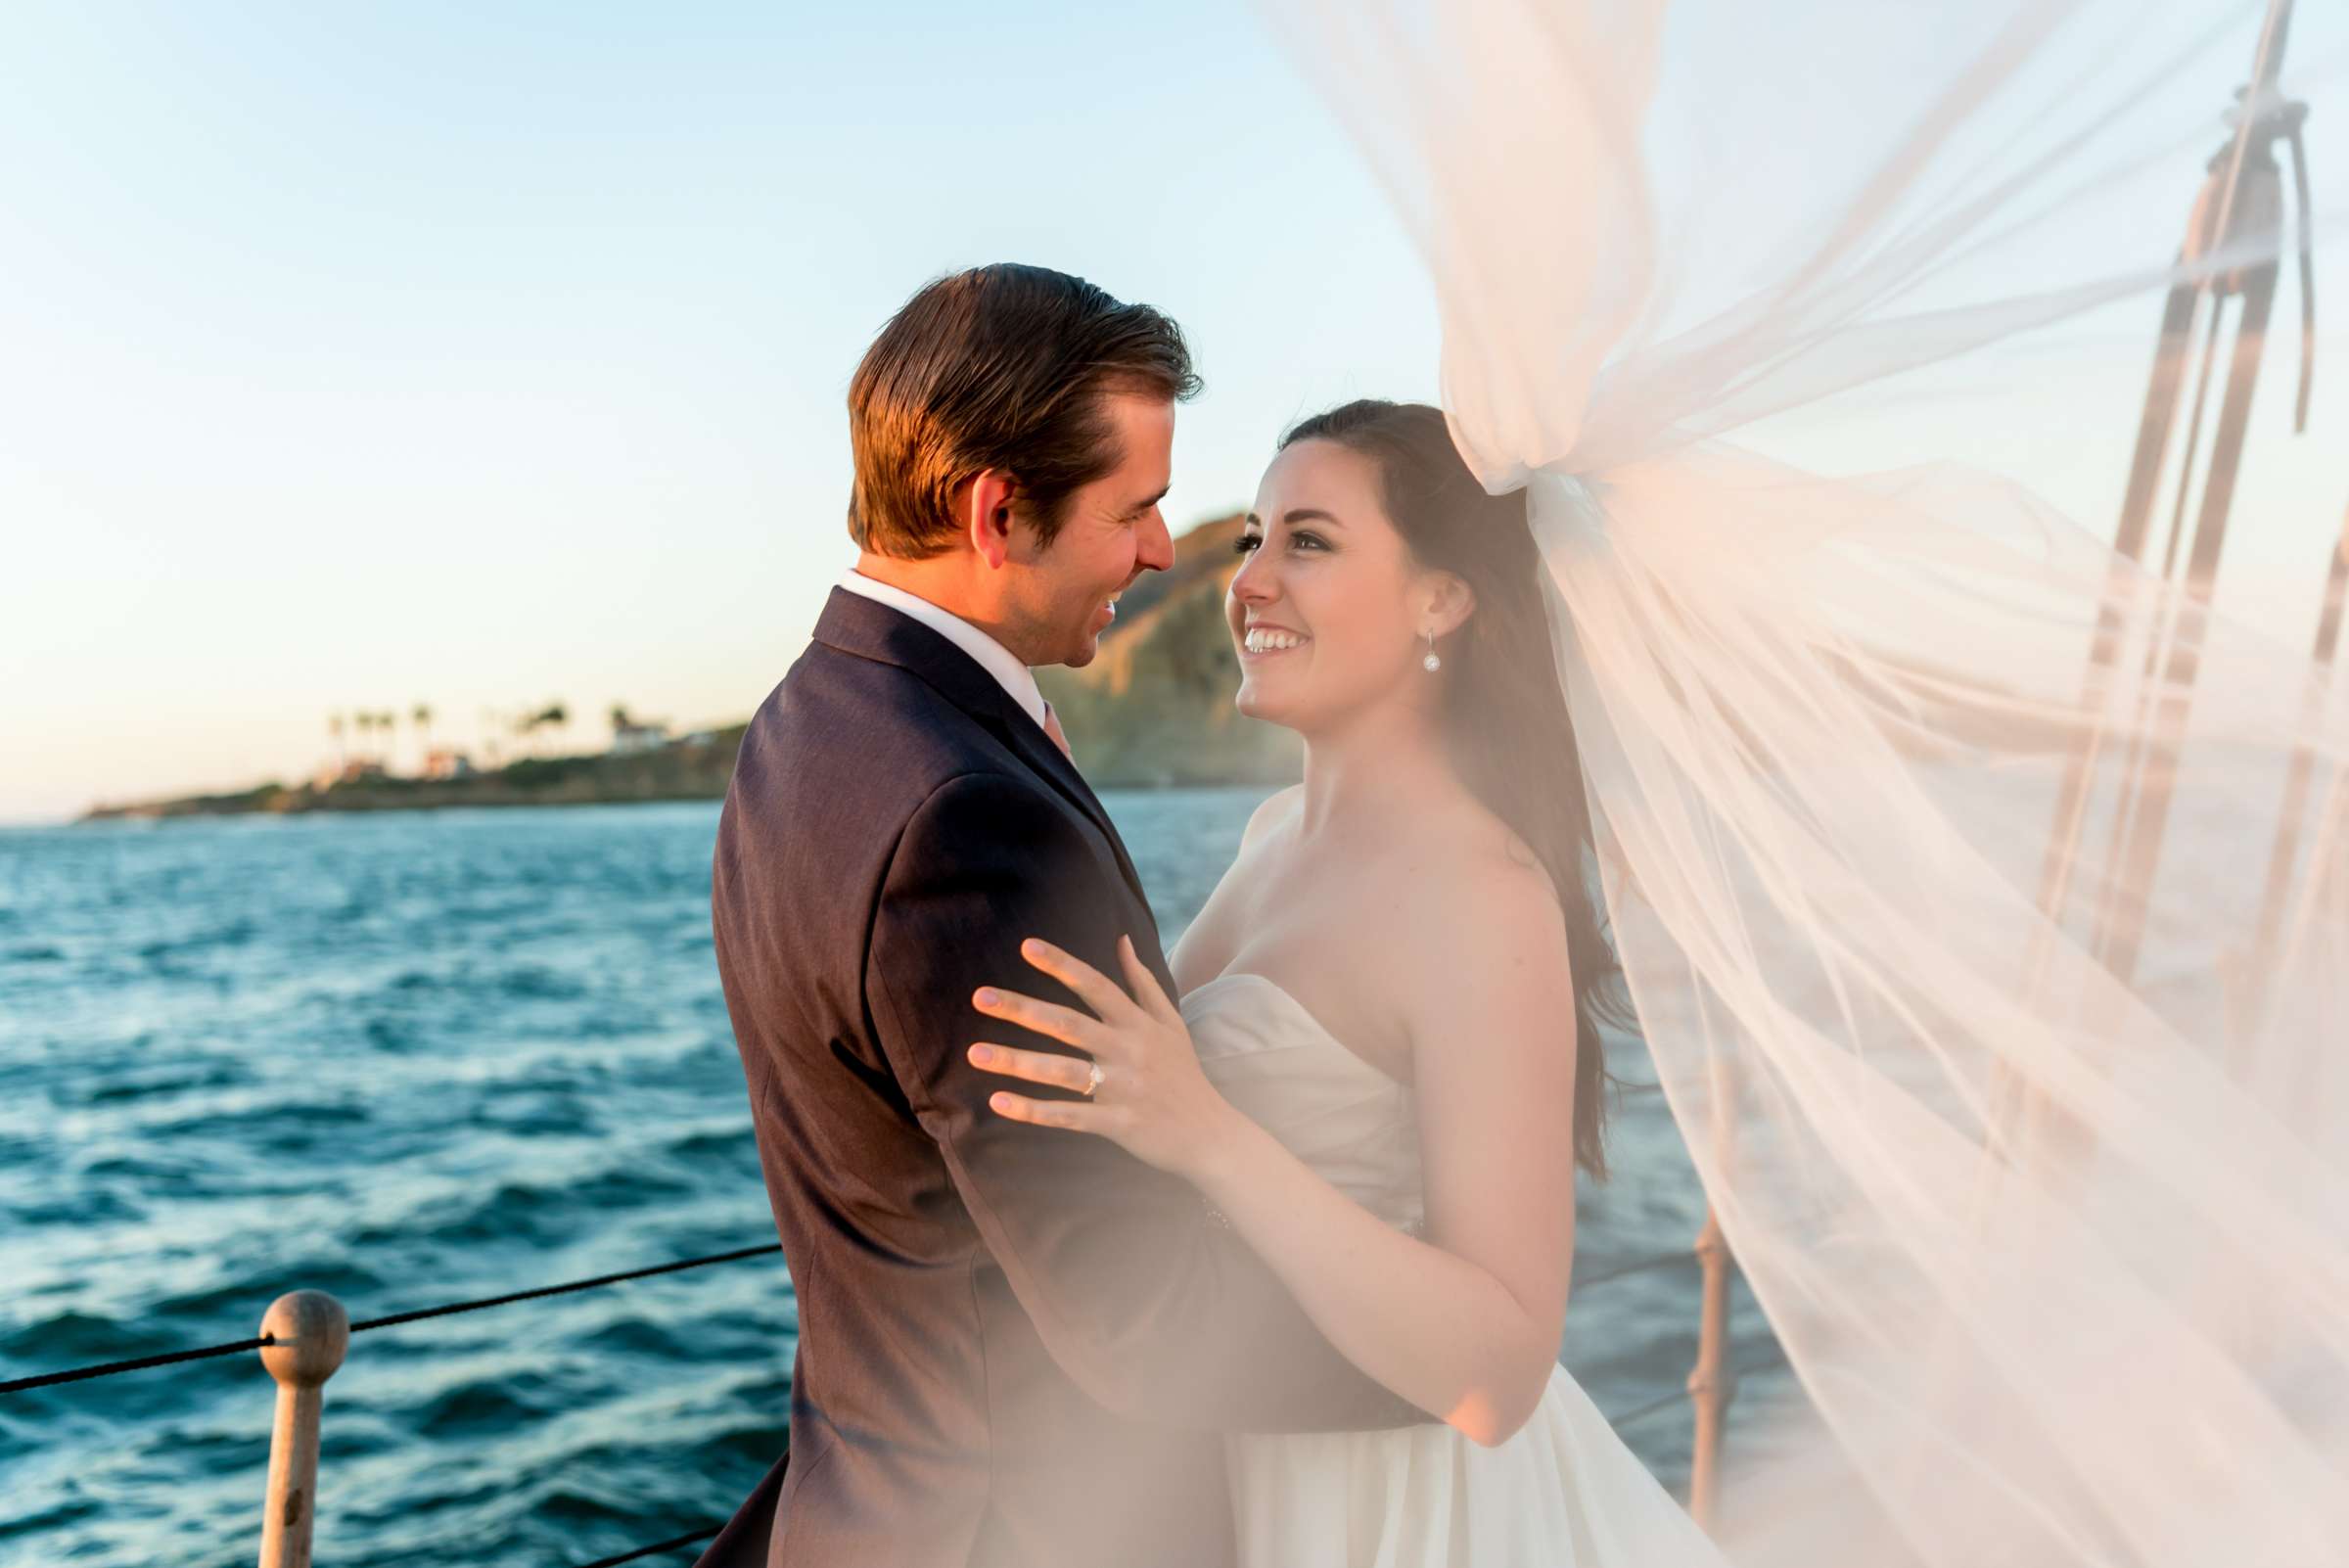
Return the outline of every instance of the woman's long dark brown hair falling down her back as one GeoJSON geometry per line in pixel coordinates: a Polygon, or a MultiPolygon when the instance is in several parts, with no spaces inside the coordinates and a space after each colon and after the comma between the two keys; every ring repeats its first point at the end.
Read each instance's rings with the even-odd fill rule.
{"type": "Polygon", "coordinates": [[[1607,1174],[1607,1052],[1600,1021],[1630,1026],[1623,969],[1590,899],[1590,805],[1574,718],[1557,685],[1541,552],[1525,491],[1489,495],[1445,427],[1442,408],[1360,399],[1280,437],[1334,441],[1379,465],[1386,516],[1419,566],[1475,594],[1468,620],[1440,638],[1445,742],[1468,791],[1525,840],[1557,890],[1574,965],[1574,1160],[1607,1174]]]}

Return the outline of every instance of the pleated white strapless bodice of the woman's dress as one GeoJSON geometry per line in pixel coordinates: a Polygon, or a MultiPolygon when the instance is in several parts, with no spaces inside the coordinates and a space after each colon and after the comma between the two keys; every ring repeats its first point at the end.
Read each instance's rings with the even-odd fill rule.
{"type": "Polygon", "coordinates": [[[1219,974],[1182,1000],[1207,1082],[1337,1190],[1402,1230],[1426,1199],[1412,1089],[1369,1066],[1261,974],[1219,974]]]}

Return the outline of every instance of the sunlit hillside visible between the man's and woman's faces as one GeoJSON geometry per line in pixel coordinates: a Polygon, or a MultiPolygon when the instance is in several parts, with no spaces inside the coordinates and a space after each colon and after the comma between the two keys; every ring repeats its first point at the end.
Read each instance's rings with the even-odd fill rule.
{"type": "Polygon", "coordinates": [[[1224,627],[1224,589],[1240,568],[1240,519],[1174,540],[1174,568],[1118,603],[1118,624],[1085,669],[1041,669],[1045,697],[1095,786],[1278,784],[1297,777],[1294,735],[1240,718],[1240,660],[1224,627]]]}

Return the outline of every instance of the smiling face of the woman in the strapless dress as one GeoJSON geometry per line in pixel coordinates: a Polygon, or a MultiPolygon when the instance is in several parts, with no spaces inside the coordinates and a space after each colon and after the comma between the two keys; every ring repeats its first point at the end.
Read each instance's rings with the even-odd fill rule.
{"type": "Polygon", "coordinates": [[[1240,552],[1224,617],[1243,714],[1311,735],[1431,678],[1419,667],[1428,573],[1386,516],[1372,458],[1337,441],[1283,451],[1240,552]]]}

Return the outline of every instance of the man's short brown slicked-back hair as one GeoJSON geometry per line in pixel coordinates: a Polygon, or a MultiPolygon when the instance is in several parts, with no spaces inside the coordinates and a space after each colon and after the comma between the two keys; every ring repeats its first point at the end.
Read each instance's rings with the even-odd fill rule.
{"type": "Polygon", "coordinates": [[[1196,394],[1182,329],[1050,268],[930,282],[848,383],[848,535],[881,556],[942,554],[961,533],[954,486],[998,469],[1050,545],[1069,495],[1118,467],[1106,392],[1196,394]]]}

